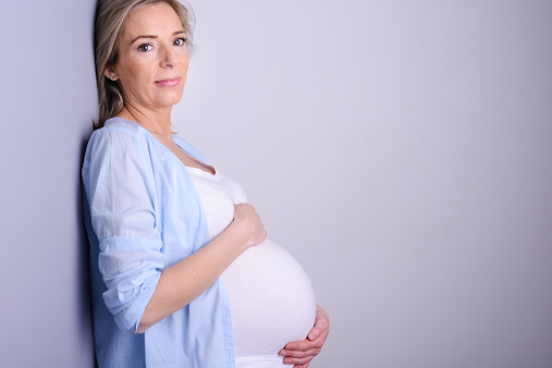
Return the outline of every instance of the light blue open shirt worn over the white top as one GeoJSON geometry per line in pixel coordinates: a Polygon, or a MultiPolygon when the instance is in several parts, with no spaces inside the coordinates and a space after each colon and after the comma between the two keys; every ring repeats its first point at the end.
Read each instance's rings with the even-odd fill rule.
{"type": "MultiPolygon", "coordinates": [[[[173,139],[208,163],[192,145],[173,139]]],[[[93,133],[82,173],[99,367],[234,367],[230,299],[220,280],[136,333],[161,270],[209,242],[182,161],[140,125],[112,118],[93,133]]]]}

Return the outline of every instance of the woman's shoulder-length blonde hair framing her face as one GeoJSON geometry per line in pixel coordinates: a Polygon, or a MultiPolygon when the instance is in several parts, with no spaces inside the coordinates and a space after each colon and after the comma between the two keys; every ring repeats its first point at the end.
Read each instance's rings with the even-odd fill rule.
{"type": "Polygon", "coordinates": [[[114,116],[123,108],[124,99],[116,82],[109,79],[103,72],[106,68],[114,65],[119,58],[119,40],[124,28],[126,16],[138,5],[165,2],[179,15],[182,27],[186,32],[187,47],[192,53],[192,30],[194,27],[194,13],[189,5],[179,0],[99,0],[96,13],[96,82],[98,85],[98,121],[94,128],[100,128],[109,118],[114,116]]]}

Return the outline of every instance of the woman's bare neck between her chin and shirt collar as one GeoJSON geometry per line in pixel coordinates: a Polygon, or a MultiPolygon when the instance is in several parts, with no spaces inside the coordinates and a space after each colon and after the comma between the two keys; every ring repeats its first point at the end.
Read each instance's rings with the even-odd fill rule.
{"type": "Polygon", "coordinates": [[[136,109],[125,102],[116,115],[142,125],[155,136],[171,138],[171,110],[172,107],[163,110],[136,109]]]}

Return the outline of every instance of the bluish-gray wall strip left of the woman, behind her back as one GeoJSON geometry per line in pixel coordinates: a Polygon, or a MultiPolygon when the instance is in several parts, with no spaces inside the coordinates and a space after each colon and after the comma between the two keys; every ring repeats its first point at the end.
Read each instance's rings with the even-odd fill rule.
{"type": "Polygon", "coordinates": [[[2,1],[2,367],[94,367],[81,158],[96,1],[2,1]]]}

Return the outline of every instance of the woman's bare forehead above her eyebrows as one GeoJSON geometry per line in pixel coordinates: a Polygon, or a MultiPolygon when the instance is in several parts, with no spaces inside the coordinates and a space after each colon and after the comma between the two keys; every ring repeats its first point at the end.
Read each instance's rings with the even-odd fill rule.
{"type": "Polygon", "coordinates": [[[165,2],[138,5],[126,16],[122,38],[139,35],[161,36],[183,29],[179,14],[165,2]]]}

